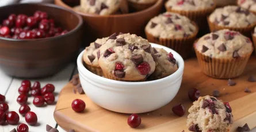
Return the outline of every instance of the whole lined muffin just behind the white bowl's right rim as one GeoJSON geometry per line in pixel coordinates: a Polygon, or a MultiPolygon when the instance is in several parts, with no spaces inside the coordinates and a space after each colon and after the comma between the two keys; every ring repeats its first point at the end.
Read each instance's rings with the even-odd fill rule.
{"type": "Polygon", "coordinates": [[[186,59],[192,53],[198,28],[189,18],[177,13],[166,12],[152,18],[148,22],[145,32],[148,41],[168,46],[186,59]]]}

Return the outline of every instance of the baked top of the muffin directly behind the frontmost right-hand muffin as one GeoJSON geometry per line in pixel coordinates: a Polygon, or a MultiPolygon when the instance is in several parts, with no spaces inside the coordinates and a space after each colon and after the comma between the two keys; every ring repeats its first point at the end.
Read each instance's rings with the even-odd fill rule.
{"type": "Polygon", "coordinates": [[[219,26],[245,28],[256,23],[256,15],[239,6],[225,6],[213,11],[209,21],[219,26]]]}

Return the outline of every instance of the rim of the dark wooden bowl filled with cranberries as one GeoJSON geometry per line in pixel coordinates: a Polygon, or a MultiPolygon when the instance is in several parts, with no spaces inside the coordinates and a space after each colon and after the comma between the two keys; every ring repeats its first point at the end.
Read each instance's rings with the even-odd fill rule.
{"type": "Polygon", "coordinates": [[[78,14],[75,13],[75,11],[73,11],[73,10],[67,9],[67,8],[65,8],[65,7],[62,7],[62,6],[50,4],[50,3],[16,3],[16,4],[13,4],[13,5],[2,6],[2,7],[0,7],[0,10],[1,10],[2,8],[5,8],[5,7],[22,6],[22,5],[30,5],[30,6],[39,5],[39,6],[53,7],[53,8],[55,8],[55,9],[60,9],[60,10],[66,10],[66,11],[68,11],[68,12],[74,14],[74,15],[78,18],[79,22],[78,22],[78,25],[77,25],[74,29],[68,31],[68,33],[63,34],[63,35],[61,35],[61,36],[48,37],[48,38],[36,38],[36,39],[32,39],[32,40],[29,40],[29,39],[21,40],[21,39],[0,37],[0,40],[22,41],[22,42],[26,42],[26,41],[32,42],[32,41],[40,41],[40,40],[54,40],[54,39],[59,39],[59,38],[62,38],[62,37],[66,37],[66,36],[68,36],[68,35],[70,35],[70,34],[76,32],[77,30],[79,30],[79,28],[82,28],[83,19],[82,19],[81,15],[78,15],[78,14]]]}

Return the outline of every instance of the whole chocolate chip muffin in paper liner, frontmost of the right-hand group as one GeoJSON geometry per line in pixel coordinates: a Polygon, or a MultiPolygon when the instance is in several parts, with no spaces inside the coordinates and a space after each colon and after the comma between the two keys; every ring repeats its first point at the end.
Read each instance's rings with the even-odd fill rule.
{"type": "Polygon", "coordinates": [[[194,43],[197,60],[206,75],[230,79],[241,75],[253,52],[253,44],[247,38],[229,29],[202,36],[194,43]]]}

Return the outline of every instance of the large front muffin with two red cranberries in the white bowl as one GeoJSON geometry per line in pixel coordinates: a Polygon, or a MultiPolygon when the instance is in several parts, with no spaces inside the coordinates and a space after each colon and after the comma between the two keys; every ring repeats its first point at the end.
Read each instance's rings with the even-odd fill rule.
{"type": "Polygon", "coordinates": [[[108,79],[142,81],[155,71],[152,53],[146,39],[136,34],[114,33],[100,48],[99,64],[108,79]]]}

